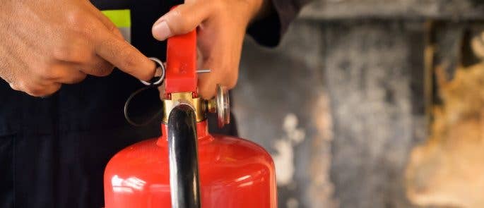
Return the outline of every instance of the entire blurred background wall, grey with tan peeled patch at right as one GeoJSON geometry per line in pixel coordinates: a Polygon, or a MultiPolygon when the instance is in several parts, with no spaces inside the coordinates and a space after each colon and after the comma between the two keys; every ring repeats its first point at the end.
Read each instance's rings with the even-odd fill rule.
{"type": "Polygon", "coordinates": [[[484,2],[316,0],[244,42],[240,135],[279,207],[484,207],[484,2]]]}

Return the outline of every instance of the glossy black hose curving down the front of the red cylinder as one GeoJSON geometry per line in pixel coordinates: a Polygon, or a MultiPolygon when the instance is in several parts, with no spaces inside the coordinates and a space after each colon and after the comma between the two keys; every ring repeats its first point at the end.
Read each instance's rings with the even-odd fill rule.
{"type": "Polygon", "coordinates": [[[195,111],[178,104],[168,117],[168,154],[172,208],[199,208],[199,158],[195,111]]]}

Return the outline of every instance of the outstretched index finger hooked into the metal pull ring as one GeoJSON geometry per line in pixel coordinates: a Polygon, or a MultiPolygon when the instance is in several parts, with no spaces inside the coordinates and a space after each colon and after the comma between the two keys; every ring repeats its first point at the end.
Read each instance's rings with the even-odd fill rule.
{"type": "Polygon", "coordinates": [[[95,52],[121,71],[140,80],[150,80],[155,75],[156,65],[153,61],[105,27],[100,29],[95,40],[95,52]]]}

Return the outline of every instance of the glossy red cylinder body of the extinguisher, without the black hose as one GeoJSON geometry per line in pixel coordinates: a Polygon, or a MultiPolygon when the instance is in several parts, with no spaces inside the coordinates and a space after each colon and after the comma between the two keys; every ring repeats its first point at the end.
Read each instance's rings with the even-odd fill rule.
{"type": "MultiPolygon", "coordinates": [[[[203,208],[277,207],[274,165],[262,147],[237,137],[212,136],[206,121],[197,128],[203,208]]],[[[105,170],[106,208],[171,207],[166,145],[165,137],[146,140],[111,159],[105,170]]]]}

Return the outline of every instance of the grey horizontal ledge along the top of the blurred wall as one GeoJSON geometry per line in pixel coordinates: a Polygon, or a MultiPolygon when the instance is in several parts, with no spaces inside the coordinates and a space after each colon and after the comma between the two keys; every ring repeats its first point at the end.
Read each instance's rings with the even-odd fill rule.
{"type": "Polygon", "coordinates": [[[301,17],[483,20],[483,11],[480,0],[316,0],[301,17]]]}

